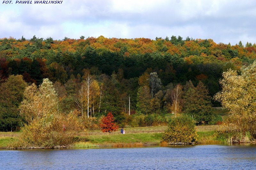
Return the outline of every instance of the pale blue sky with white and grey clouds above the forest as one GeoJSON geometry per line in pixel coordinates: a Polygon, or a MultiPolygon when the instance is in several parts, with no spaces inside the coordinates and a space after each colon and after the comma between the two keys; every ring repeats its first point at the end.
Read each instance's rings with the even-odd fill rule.
{"type": "MultiPolygon", "coordinates": [[[[7,2],[7,1],[5,1],[7,2]]],[[[64,37],[212,39],[256,43],[254,0],[63,0],[62,4],[5,4],[0,38],[64,37]]],[[[29,1],[30,2],[30,1],[29,1]]],[[[10,1],[9,1],[10,3],[10,1]]]]}

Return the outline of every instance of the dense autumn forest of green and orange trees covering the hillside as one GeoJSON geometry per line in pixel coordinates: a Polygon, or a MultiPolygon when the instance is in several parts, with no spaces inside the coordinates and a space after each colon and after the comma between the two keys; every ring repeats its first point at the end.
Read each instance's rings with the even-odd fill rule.
{"type": "Polygon", "coordinates": [[[27,85],[40,85],[43,78],[53,82],[61,113],[77,109],[81,117],[99,117],[112,112],[116,122],[124,124],[130,97],[131,115],[184,112],[198,124],[210,123],[216,119],[211,106],[219,103],[212,97],[221,90],[222,72],[252,63],[255,52],[256,45],[251,43],[231,46],[180,36],[156,40],[3,38],[0,130],[26,122],[19,114],[23,92],[27,85]]]}

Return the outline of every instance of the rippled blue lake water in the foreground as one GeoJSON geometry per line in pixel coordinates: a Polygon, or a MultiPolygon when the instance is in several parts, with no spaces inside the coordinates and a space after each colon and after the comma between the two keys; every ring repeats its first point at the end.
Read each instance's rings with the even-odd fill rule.
{"type": "Polygon", "coordinates": [[[256,145],[0,150],[0,169],[256,169],[256,145]]]}

